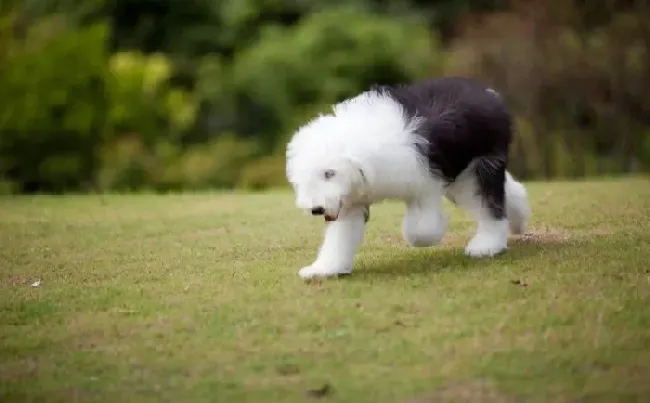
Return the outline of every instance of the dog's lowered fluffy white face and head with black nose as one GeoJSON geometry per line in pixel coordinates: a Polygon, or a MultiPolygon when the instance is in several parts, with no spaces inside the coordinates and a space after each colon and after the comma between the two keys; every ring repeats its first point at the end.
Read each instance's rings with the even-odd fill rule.
{"type": "Polygon", "coordinates": [[[363,192],[365,177],[361,165],[336,141],[328,119],[302,128],[289,143],[287,179],[298,208],[334,221],[363,192]]]}

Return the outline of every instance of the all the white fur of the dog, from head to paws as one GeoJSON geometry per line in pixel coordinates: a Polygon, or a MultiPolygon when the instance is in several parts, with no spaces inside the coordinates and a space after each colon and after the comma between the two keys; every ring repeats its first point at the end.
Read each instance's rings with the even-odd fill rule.
{"type": "Polygon", "coordinates": [[[323,207],[329,222],[316,260],[300,269],[303,278],[350,273],[365,230],[366,206],[387,199],[403,200],[405,241],[416,247],[439,243],[448,217],[447,197],[477,221],[465,248],[472,257],[493,256],[507,248],[508,234],[522,233],[530,217],[524,186],[506,175],[507,219],[495,220],[477,196],[468,168],[450,185],[429,172],[414,142],[417,121],[405,121],[402,106],[376,92],[337,104],[300,128],[287,147],[287,179],[297,207],[323,207]]]}

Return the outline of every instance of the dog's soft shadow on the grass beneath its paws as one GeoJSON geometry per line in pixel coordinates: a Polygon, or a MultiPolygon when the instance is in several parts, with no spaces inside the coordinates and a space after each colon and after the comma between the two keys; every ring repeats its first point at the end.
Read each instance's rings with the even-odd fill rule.
{"type": "Polygon", "coordinates": [[[469,258],[464,254],[464,247],[458,246],[406,248],[393,251],[384,259],[359,262],[354,273],[344,278],[347,281],[366,281],[368,278],[429,276],[448,270],[480,270],[499,262],[513,263],[565,250],[579,253],[579,249],[584,245],[585,242],[577,242],[568,237],[531,233],[511,237],[508,251],[493,258],[469,258]]]}

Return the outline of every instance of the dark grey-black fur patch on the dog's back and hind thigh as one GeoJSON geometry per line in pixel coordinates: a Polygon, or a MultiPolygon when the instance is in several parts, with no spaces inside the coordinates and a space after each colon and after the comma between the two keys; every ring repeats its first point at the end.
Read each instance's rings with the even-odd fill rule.
{"type": "Polygon", "coordinates": [[[433,78],[410,85],[375,86],[399,102],[407,121],[419,119],[415,146],[432,175],[448,183],[471,166],[478,192],[495,218],[505,217],[505,172],[512,119],[498,93],[470,78],[433,78]]]}

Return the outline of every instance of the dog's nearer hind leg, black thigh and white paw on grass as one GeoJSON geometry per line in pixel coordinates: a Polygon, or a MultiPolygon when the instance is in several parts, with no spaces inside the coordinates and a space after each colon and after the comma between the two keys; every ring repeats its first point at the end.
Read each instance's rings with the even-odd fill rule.
{"type": "Polygon", "coordinates": [[[507,248],[506,158],[477,158],[448,188],[449,197],[477,221],[474,237],[465,247],[471,257],[494,256],[507,248]]]}

